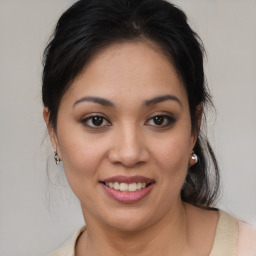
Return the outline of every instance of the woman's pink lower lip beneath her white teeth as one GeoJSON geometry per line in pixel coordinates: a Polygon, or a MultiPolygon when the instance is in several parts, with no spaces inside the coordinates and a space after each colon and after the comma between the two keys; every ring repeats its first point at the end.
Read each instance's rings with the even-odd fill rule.
{"type": "Polygon", "coordinates": [[[127,192],[127,191],[124,192],[124,191],[110,188],[105,184],[101,184],[101,185],[111,198],[115,199],[120,203],[128,204],[128,203],[136,203],[141,199],[143,199],[144,197],[146,197],[152,190],[154,184],[150,184],[149,186],[134,192],[127,192]]]}

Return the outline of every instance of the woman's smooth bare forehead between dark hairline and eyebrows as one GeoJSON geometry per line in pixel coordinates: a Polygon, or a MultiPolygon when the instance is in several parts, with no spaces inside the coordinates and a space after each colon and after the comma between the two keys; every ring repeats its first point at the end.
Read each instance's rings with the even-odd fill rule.
{"type": "Polygon", "coordinates": [[[114,43],[98,51],[63,100],[75,101],[78,97],[96,95],[134,103],[163,94],[187,100],[171,59],[156,43],[142,40],[114,43]]]}

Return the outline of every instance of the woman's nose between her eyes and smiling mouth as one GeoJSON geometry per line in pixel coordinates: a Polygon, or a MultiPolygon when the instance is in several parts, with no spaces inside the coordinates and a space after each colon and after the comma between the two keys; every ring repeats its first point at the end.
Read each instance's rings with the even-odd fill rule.
{"type": "Polygon", "coordinates": [[[149,159],[145,138],[136,127],[120,129],[115,133],[112,145],[109,160],[114,164],[130,168],[146,163],[149,159]]]}

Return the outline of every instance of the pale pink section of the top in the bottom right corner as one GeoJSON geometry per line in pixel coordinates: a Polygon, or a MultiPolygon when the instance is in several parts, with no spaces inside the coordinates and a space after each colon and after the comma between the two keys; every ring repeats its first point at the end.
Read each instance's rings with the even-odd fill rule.
{"type": "Polygon", "coordinates": [[[242,221],[238,222],[238,244],[239,256],[256,255],[256,228],[242,221]]]}

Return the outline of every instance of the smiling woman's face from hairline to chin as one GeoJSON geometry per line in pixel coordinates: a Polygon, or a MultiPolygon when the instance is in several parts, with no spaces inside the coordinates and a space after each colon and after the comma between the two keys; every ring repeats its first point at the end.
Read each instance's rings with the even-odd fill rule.
{"type": "Polygon", "coordinates": [[[181,205],[195,136],[184,86],[155,43],[98,52],[63,96],[50,134],[88,224],[140,229],[181,205]]]}

